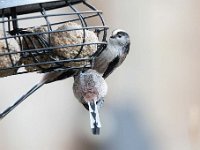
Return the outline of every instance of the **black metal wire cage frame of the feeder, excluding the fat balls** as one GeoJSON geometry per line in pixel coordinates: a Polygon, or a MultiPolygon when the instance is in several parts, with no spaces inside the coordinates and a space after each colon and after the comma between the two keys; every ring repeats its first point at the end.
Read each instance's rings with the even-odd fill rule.
{"type": "Polygon", "coordinates": [[[63,71],[70,69],[88,69],[93,65],[95,57],[99,55],[106,45],[106,36],[108,27],[105,25],[105,21],[102,17],[102,11],[97,10],[93,5],[86,2],[86,0],[17,0],[17,1],[1,1],[0,0],[0,29],[2,28],[3,37],[0,37],[0,42],[6,43],[6,52],[0,52],[0,57],[8,56],[12,62],[12,65],[9,67],[0,67],[1,71],[6,71],[9,69],[16,69],[12,75],[28,73],[25,70],[25,67],[34,67],[33,71],[45,73],[50,71],[63,71]],[[84,8],[84,10],[79,10],[78,6],[84,8]],[[54,13],[54,10],[66,8],[66,11],[54,13]],[[71,10],[70,12],[68,10],[71,10]],[[56,17],[68,17],[67,19],[52,22],[50,18],[56,17]],[[44,24],[38,24],[47,29],[45,32],[27,32],[28,28],[33,28],[34,26],[24,27],[20,23],[22,21],[35,21],[37,19],[43,19],[44,24]],[[91,25],[91,21],[98,22],[96,25],[91,25]],[[20,22],[20,23],[19,23],[20,22]],[[76,22],[81,25],[80,28],[75,29],[63,29],[55,30],[54,28],[58,25],[63,25],[68,22],[76,22]],[[50,36],[53,33],[58,32],[68,32],[72,30],[82,30],[83,40],[78,44],[65,44],[60,46],[52,46],[50,36]],[[85,42],[86,30],[93,31],[98,37],[98,42],[85,42]],[[48,35],[49,40],[41,38],[41,35],[48,35]],[[30,39],[30,37],[35,37],[36,41],[30,39]],[[19,46],[20,51],[10,51],[8,44],[9,39],[15,39],[19,46]],[[31,48],[23,47],[23,40],[29,39],[32,46],[31,48]],[[41,47],[35,46],[37,42],[41,47]],[[97,51],[89,57],[80,58],[78,55],[83,50],[83,47],[86,45],[97,45],[97,51]],[[80,51],[76,57],[66,59],[55,59],[52,57],[52,53],[57,48],[66,48],[66,47],[79,47],[80,51]],[[31,64],[21,64],[14,63],[12,60],[12,55],[20,55],[21,58],[31,57],[33,63],[31,64]],[[47,55],[49,61],[39,61],[36,56],[47,55]],[[88,62],[85,66],[70,66],[66,67],[64,64],[68,62],[88,62]],[[42,65],[51,64],[50,68],[43,68],[42,65]],[[20,69],[21,68],[21,69],[20,69]]]}

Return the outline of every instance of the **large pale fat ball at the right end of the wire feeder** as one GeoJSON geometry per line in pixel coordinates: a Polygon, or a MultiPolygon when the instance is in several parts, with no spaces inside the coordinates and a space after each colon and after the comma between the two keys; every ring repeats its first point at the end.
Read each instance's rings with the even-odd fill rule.
{"type": "MultiPolygon", "coordinates": [[[[70,30],[52,33],[51,44],[54,47],[64,46],[64,48],[55,48],[54,52],[61,58],[74,59],[74,58],[89,58],[97,51],[98,37],[93,31],[83,30],[82,26],[68,22],[58,27],[57,30],[70,30]],[[84,35],[85,34],[85,35],[84,35]],[[84,41],[85,37],[85,41],[84,41]],[[83,43],[84,42],[84,43],[83,43]],[[87,45],[84,45],[88,43],[87,45]],[[79,46],[74,46],[79,44],[79,46]],[[84,45],[82,50],[80,45],[84,45]],[[80,51],[81,50],[81,51],[80,51]]],[[[65,63],[68,67],[81,67],[89,64],[87,61],[65,63]]]]}

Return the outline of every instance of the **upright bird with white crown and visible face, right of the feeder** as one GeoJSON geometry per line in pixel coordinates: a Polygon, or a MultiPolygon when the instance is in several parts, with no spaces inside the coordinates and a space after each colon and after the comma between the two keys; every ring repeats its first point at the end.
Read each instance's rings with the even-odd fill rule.
{"type": "Polygon", "coordinates": [[[93,69],[102,74],[103,78],[107,78],[124,62],[129,49],[129,34],[122,29],[113,30],[107,45],[100,54],[97,54],[93,69]]]}

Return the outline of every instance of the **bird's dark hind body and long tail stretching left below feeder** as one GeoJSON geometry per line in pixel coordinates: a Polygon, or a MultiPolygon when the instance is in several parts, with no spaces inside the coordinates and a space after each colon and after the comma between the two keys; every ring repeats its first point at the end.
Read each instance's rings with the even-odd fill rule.
{"type": "Polygon", "coordinates": [[[45,84],[66,79],[69,78],[77,73],[78,70],[66,70],[66,71],[54,71],[46,73],[42,80],[35,86],[33,86],[26,94],[24,94],[22,97],[20,97],[13,105],[8,107],[6,110],[4,110],[2,113],[0,113],[0,120],[3,119],[8,113],[10,113],[15,107],[17,107],[21,102],[23,102],[28,96],[30,96],[32,93],[34,93],[36,90],[38,90],[40,87],[42,87],[45,84]]]}

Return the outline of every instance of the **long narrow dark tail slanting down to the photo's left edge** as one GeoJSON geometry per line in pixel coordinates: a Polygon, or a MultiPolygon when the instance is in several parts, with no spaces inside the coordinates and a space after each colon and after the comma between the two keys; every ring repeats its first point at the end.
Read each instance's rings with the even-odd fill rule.
{"type": "Polygon", "coordinates": [[[13,105],[5,109],[3,112],[0,113],[0,120],[2,120],[7,114],[9,114],[15,107],[17,107],[21,102],[23,102],[28,96],[38,90],[40,87],[44,85],[44,82],[36,84],[32,87],[26,94],[20,97],[13,105]]]}

